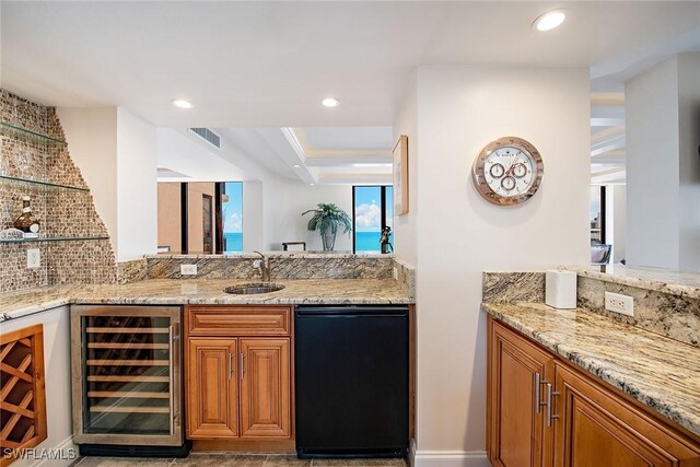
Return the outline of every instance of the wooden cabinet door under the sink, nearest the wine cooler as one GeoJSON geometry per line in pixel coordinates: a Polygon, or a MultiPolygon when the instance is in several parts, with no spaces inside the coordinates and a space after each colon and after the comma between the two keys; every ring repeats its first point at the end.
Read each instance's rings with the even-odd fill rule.
{"type": "Polygon", "coordinates": [[[236,437],[237,340],[190,338],[187,355],[187,437],[236,437]]]}

